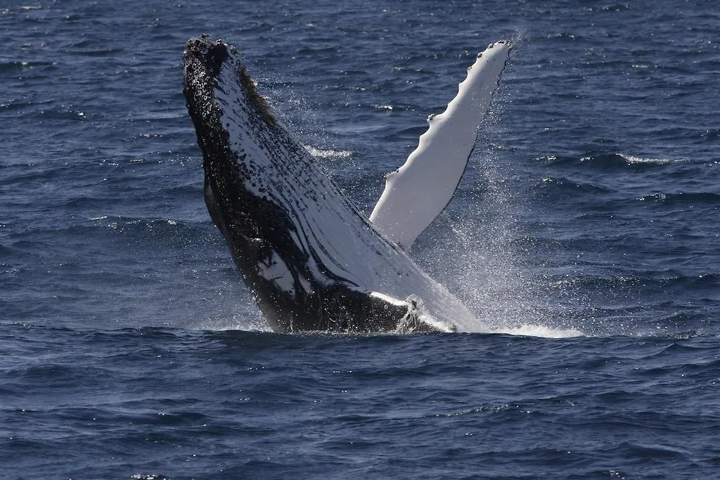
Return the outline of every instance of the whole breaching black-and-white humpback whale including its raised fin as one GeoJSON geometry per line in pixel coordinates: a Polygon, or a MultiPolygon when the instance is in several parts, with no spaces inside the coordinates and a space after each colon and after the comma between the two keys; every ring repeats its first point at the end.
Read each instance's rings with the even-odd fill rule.
{"type": "Polygon", "coordinates": [[[187,42],[183,91],[205,204],[272,330],[480,329],[407,250],[454,193],[510,47],[478,55],[367,218],[274,115],[237,48],[208,35],[187,42]]]}

